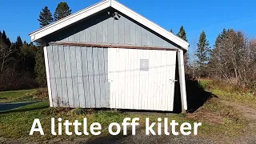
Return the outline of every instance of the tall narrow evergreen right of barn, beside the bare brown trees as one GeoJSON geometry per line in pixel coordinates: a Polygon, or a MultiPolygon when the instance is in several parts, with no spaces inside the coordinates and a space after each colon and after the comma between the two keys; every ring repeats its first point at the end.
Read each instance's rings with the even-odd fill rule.
{"type": "Polygon", "coordinates": [[[210,44],[206,40],[206,33],[202,30],[200,38],[197,43],[196,57],[198,58],[197,64],[201,76],[206,76],[206,63],[209,61],[210,44]]]}

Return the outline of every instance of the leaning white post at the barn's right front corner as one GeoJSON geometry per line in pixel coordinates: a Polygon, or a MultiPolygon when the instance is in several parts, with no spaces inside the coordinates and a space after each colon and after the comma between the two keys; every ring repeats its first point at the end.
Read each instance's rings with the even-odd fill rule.
{"type": "Polygon", "coordinates": [[[181,90],[182,112],[185,112],[185,110],[187,110],[187,103],[183,50],[178,50],[178,76],[181,90]]]}

